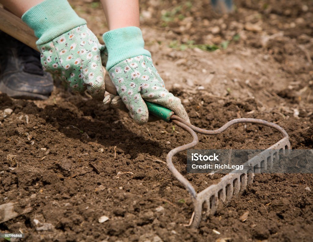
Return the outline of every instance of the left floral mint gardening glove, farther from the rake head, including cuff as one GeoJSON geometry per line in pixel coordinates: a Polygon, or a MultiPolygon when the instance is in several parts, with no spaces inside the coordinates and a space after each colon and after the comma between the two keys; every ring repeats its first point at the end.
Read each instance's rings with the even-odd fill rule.
{"type": "Polygon", "coordinates": [[[22,20],[35,31],[43,69],[69,84],[74,92],[84,92],[103,100],[105,81],[101,55],[105,45],[87,28],[66,0],[46,0],[30,8],[22,20]]]}

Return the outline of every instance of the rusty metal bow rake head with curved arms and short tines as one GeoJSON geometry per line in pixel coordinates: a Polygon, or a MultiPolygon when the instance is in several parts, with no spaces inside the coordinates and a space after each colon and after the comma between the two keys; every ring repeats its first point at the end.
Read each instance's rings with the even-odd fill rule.
{"type": "Polygon", "coordinates": [[[182,145],[171,150],[167,154],[166,158],[168,168],[176,177],[176,179],[181,182],[182,185],[187,189],[192,198],[192,203],[194,207],[191,218],[192,223],[190,225],[192,228],[197,228],[199,226],[202,214],[205,213],[206,216],[214,214],[220,203],[227,204],[230,202],[233,196],[237,196],[240,193],[244,192],[247,185],[253,182],[254,173],[261,172],[260,169],[258,169],[259,167],[262,167],[262,170],[272,168],[273,163],[276,160],[279,160],[279,150],[283,150],[283,154],[285,154],[286,150],[287,152],[290,152],[290,142],[287,132],[279,125],[267,122],[262,119],[233,119],[217,130],[205,130],[197,128],[192,124],[186,123],[182,118],[179,118],[176,115],[172,115],[171,121],[177,126],[186,130],[189,134],[191,134],[193,138],[193,141],[191,143],[182,145]],[[182,176],[179,171],[177,171],[172,163],[172,157],[177,153],[185,151],[187,149],[191,149],[198,144],[198,136],[196,132],[200,134],[216,135],[222,133],[233,124],[239,123],[262,124],[277,129],[282,134],[283,138],[275,145],[272,145],[268,149],[247,160],[243,164],[245,168],[241,172],[234,170],[223,176],[218,184],[211,185],[210,187],[207,187],[203,191],[197,193],[191,183],[188,182],[188,180],[184,176],[182,176]]]}

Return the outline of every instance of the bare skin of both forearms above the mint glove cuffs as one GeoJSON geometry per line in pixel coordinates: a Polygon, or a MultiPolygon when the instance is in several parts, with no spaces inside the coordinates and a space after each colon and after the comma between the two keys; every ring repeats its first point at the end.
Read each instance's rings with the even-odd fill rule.
{"type": "MultiPolygon", "coordinates": [[[[44,0],[0,0],[10,12],[22,17],[29,8],[44,0]]],[[[139,3],[138,0],[100,0],[104,8],[109,29],[124,27],[139,27],[139,3]]]]}

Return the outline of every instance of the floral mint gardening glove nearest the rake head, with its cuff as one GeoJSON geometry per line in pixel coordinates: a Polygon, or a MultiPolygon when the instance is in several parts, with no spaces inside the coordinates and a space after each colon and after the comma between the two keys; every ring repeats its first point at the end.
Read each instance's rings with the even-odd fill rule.
{"type": "MultiPolygon", "coordinates": [[[[142,125],[148,121],[149,113],[144,99],[172,110],[189,123],[181,100],[167,91],[153,66],[150,52],[144,49],[139,28],[114,29],[103,34],[103,40],[108,50],[106,69],[136,124],[142,125]]],[[[112,103],[118,101],[118,97],[114,98],[112,103]]]]}

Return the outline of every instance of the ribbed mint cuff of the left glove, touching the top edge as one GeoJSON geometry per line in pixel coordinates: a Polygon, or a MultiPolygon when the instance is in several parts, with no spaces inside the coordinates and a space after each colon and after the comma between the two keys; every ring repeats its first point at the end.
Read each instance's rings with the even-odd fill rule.
{"type": "Polygon", "coordinates": [[[35,31],[37,45],[48,43],[56,37],[86,24],[66,0],[45,0],[23,14],[22,20],[35,31]]]}

